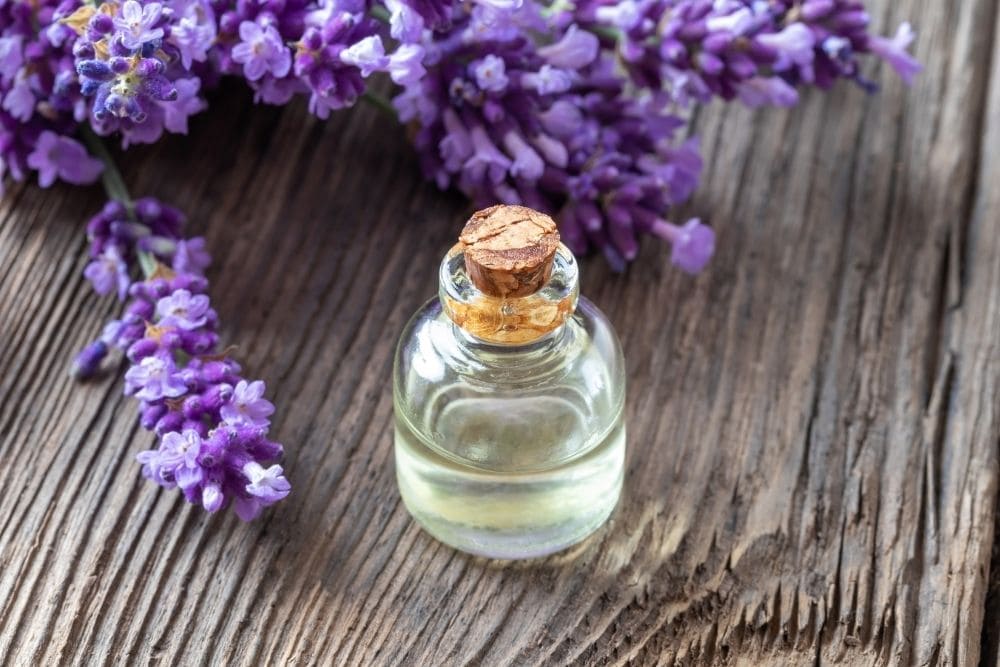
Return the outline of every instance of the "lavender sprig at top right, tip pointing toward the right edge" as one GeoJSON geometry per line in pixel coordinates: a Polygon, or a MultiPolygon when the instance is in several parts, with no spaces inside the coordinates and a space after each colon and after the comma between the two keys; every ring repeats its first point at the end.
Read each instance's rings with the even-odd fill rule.
{"type": "Polygon", "coordinates": [[[569,16],[605,38],[632,82],[673,100],[739,98],[750,106],[792,106],[804,86],[839,79],[866,89],[859,56],[886,60],[910,83],[920,65],[906,52],[908,23],[896,37],[869,33],[857,0],[589,0],[569,16]]]}

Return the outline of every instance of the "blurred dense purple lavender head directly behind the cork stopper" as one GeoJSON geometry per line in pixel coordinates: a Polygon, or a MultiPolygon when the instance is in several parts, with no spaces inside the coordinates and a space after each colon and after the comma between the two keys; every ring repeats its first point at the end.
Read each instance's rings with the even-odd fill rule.
{"type": "Polygon", "coordinates": [[[673,244],[681,269],[704,267],[712,230],[664,217],[698,183],[697,142],[679,139],[685,121],[660,100],[629,94],[596,36],[478,7],[451,30],[425,42],[428,75],[395,99],[401,119],[419,123],[416,146],[439,186],[556,212],[571,248],[597,247],[619,270],[643,233],[673,244]],[[523,37],[532,33],[551,41],[523,37]]]}

